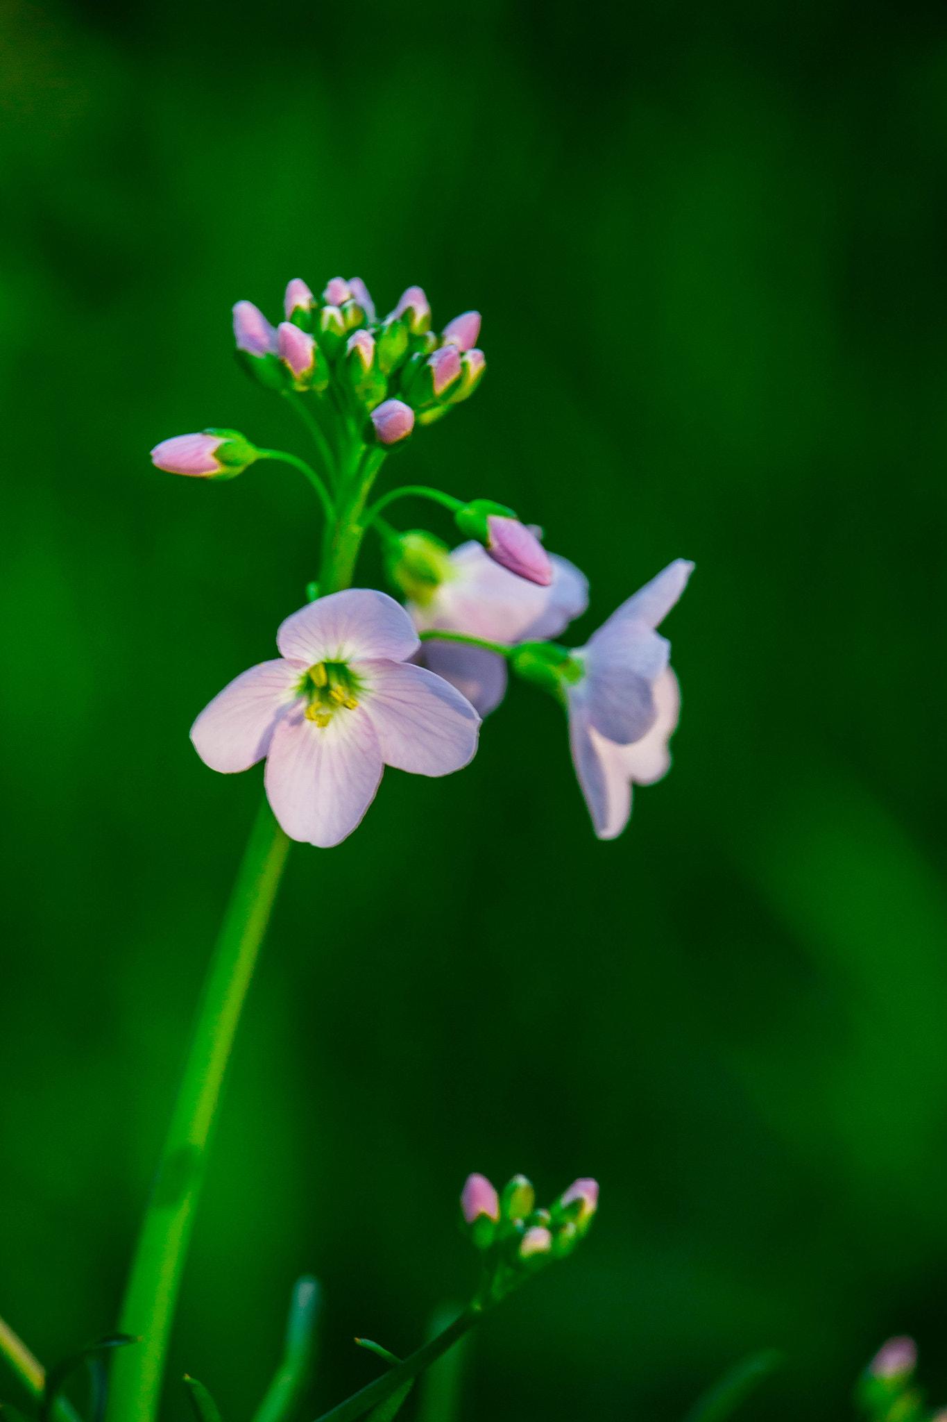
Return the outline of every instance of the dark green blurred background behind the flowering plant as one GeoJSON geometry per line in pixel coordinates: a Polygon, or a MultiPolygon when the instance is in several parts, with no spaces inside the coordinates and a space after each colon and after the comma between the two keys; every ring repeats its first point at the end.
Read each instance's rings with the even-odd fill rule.
{"type": "Polygon", "coordinates": [[[615,843],[517,685],[470,769],[294,849],[172,1376],[248,1418],[312,1270],[314,1415],[469,1287],[464,1175],[525,1170],[602,1210],[464,1422],[674,1422],[770,1344],[748,1422],[843,1416],[893,1331],[946,1401],[943,7],[3,0],[0,43],[0,1313],[47,1361],[114,1325],[260,793],[187,728],[317,572],[291,469],[148,449],[305,454],[230,306],[358,273],[483,311],[399,474],[541,522],[576,643],[696,560],[683,724],[615,843]]]}

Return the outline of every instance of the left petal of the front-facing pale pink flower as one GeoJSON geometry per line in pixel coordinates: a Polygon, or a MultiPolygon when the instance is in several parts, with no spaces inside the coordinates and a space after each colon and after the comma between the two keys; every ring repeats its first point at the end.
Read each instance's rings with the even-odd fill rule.
{"type": "Polygon", "coordinates": [[[197,755],[212,771],[247,771],[270,749],[274,727],[297,700],[302,667],[278,658],[236,677],[190,728],[197,755]]]}

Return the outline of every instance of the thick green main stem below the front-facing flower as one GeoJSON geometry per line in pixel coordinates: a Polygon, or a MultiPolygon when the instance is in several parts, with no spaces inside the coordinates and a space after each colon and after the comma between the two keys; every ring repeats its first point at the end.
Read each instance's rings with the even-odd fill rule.
{"type": "Polygon", "coordinates": [[[152,1199],[138,1239],[119,1330],[141,1335],[112,1365],[111,1422],[152,1422],[204,1176],[210,1128],[240,1011],[290,840],[264,801],[210,963],[152,1199]]]}

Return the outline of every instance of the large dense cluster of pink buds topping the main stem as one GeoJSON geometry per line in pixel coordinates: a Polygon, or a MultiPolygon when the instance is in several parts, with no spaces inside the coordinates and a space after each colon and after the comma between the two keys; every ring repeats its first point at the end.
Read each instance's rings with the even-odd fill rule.
{"type": "Polygon", "coordinates": [[[332,277],[321,296],[294,277],[285,320],[274,327],[253,301],[237,301],[237,356],[268,390],[314,391],[335,385],[359,427],[383,444],[405,439],[415,421],[429,425],[467,400],[486,370],[476,348],[480,314],[464,311],[436,336],[430,306],[409,286],[382,320],[361,277],[332,277]]]}

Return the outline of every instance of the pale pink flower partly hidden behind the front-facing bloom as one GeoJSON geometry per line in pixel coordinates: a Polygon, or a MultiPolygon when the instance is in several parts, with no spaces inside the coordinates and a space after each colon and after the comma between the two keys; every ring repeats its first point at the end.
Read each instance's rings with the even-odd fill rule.
{"type": "MultiPolygon", "coordinates": [[[[589,602],[589,584],[572,563],[555,553],[552,582],[542,587],[496,563],[480,543],[461,543],[450,555],[450,576],[423,607],[409,603],[415,626],[423,631],[466,631],[469,637],[515,644],[558,637],[589,602]]],[[[488,715],[507,690],[507,663],[496,651],[450,641],[426,641],[426,667],[444,677],[480,715],[488,715]]]]}

